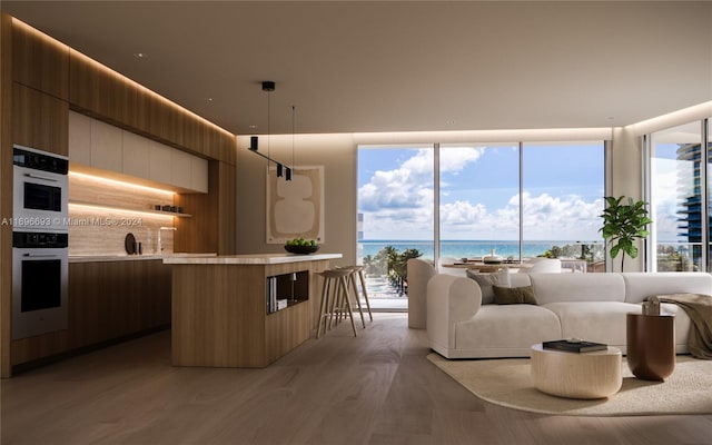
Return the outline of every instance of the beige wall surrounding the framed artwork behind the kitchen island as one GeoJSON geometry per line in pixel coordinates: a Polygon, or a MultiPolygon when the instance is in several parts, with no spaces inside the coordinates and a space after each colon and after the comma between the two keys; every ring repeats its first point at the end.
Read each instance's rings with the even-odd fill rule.
{"type": "MultiPolygon", "coordinates": [[[[291,135],[270,136],[270,157],[291,164],[291,135]]],[[[352,135],[295,135],[295,165],[324,166],[325,243],[319,251],[340,253],[333,265],[356,264],[356,145],[352,135]]],[[[238,137],[237,253],[284,253],[266,243],[267,161],[250,152],[249,137],[238,137]]],[[[267,154],[267,137],[259,138],[267,154]]]]}

